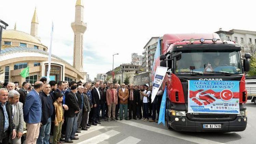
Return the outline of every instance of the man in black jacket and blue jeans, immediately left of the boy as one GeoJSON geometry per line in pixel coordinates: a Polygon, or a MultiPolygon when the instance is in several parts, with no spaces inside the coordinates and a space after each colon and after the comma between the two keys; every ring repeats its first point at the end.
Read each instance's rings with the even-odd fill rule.
{"type": "Polygon", "coordinates": [[[51,117],[53,115],[54,109],[50,91],[51,85],[45,83],[43,85],[43,92],[39,94],[39,97],[42,101],[42,120],[37,144],[49,144],[52,121],[51,117]]]}

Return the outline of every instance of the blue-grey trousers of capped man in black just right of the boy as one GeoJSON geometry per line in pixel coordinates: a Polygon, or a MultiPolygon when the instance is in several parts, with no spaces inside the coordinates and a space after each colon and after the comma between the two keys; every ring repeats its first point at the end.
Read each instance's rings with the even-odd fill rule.
{"type": "Polygon", "coordinates": [[[65,141],[70,141],[70,138],[75,137],[76,127],[77,127],[77,116],[74,117],[66,117],[66,135],[65,141]]]}

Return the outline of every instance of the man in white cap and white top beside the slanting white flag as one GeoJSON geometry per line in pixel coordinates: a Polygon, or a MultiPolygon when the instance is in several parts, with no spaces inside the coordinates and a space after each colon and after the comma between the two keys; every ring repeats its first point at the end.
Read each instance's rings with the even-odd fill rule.
{"type": "Polygon", "coordinates": [[[151,92],[148,89],[149,85],[144,85],[144,92],[140,91],[141,95],[143,96],[143,117],[144,121],[148,121],[148,97],[150,96],[151,92]]]}

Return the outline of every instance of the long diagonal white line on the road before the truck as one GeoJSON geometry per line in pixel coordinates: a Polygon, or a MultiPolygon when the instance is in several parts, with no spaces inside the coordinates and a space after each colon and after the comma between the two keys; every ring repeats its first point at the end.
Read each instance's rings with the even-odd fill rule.
{"type": "Polygon", "coordinates": [[[138,127],[138,128],[141,128],[141,129],[145,129],[145,130],[165,134],[165,135],[172,136],[172,137],[175,137],[175,138],[178,138],[178,139],[183,139],[183,140],[186,140],[186,141],[194,142],[194,143],[199,143],[199,144],[219,144],[220,143],[220,142],[215,142],[215,141],[212,141],[212,140],[198,138],[196,136],[191,136],[191,135],[178,133],[178,132],[175,132],[175,131],[156,128],[156,127],[152,127],[152,126],[148,126],[148,125],[144,125],[144,124],[140,124],[140,123],[135,123],[135,122],[129,121],[129,120],[125,120],[125,121],[122,120],[122,121],[118,121],[118,122],[130,125],[130,126],[138,127]]]}

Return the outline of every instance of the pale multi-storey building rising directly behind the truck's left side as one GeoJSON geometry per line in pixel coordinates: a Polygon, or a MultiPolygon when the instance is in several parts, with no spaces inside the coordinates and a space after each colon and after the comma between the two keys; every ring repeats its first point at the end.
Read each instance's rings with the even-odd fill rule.
{"type": "Polygon", "coordinates": [[[154,55],[159,37],[152,37],[144,46],[144,60],[142,61],[142,67],[145,71],[151,71],[151,66],[154,62],[154,55]]]}

